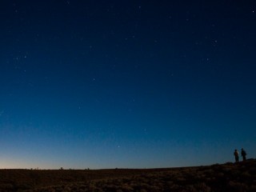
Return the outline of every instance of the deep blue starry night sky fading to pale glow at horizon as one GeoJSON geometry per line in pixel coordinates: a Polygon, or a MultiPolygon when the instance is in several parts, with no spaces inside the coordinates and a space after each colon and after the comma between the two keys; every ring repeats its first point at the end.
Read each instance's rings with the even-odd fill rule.
{"type": "Polygon", "coordinates": [[[0,168],[256,156],[256,2],[1,1],[0,168]]]}

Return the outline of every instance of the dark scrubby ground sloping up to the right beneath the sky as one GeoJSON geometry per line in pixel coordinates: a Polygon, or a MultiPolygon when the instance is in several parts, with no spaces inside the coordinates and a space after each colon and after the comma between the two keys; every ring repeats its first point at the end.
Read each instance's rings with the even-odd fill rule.
{"type": "Polygon", "coordinates": [[[149,170],[0,170],[0,191],[256,191],[256,160],[149,170]]]}

